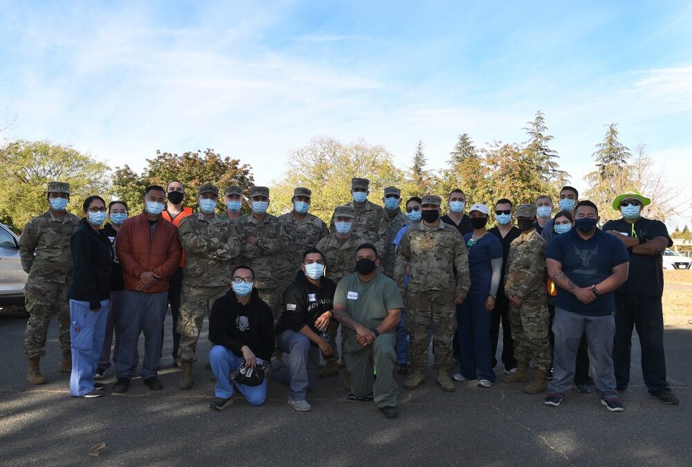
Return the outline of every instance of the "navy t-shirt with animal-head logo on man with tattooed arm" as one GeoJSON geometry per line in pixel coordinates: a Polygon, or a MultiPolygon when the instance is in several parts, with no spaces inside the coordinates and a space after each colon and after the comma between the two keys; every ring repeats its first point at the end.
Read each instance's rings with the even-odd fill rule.
{"type": "MultiPolygon", "coordinates": [[[[612,268],[630,260],[620,239],[596,229],[594,236],[585,240],[579,237],[576,228],[553,237],[545,250],[545,257],[561,262],[563,273],[580,287],[599,284],[612,274],[612,268]]],[[[615,313],[615,294],[601,293],[590,304],[583,304],[576,295],[558,287],[554,304],[583,315],[605,316],[615,313]]]]}

